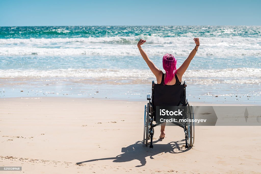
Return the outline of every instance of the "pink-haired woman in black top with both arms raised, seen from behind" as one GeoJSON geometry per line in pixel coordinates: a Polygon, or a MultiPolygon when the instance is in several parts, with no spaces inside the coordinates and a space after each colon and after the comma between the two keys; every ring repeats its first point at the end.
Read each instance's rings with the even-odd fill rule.
{"type": "MultiPolygon", "coordinates": [[[[177,69],[176,64],[177,60],[171,54],[165,54],[162,59],[163,69],[166,73],[163,73],[147,56],[144,50],[141,48],[141,45],[146,42],[146,40],[140,39],[137,46],[140,51],[141,56],[149,66],[152,73],[156,76],[158,85],[181,85],[182,76],[188,68],[189,63],[195,56],[199,47],[199,38],[194,38],[195,48],[188,55],[188,58],[183,62],[183,64],[177,69]]],[[[161,124],[161,135],[159,138],[165,137],[165,125],[166,123],[161,124]]]]}

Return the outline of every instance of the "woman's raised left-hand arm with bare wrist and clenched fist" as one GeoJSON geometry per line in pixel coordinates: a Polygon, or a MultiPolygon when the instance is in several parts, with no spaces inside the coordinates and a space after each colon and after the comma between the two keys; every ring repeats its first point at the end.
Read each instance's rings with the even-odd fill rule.
{"type": "Polygon", "coordinates": [[[140,39],[140,41],[138,42],[137,46],[140,50],[140,54],[143,57],[143,59],[145,60],[145,62],[147,63],[147,65],[149,66],[150,70],[152,71],[152,73],[156,76],[156,78],[158,78],[159,74],[161,73],[161,71],[159,70],[158,67],[156,67],[156,65],[149,59],[149,57],[147,56],[147,54],[144,52],[144,50],[141,48],[141,45],[144,44],[146,42],[146,40],[140,39]]]}

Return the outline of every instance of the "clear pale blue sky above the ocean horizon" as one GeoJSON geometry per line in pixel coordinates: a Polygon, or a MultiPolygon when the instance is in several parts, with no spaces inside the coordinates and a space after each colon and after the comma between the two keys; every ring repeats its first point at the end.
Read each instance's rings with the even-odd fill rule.
{"type": "Polygon", "coordinates": [[[261,25],[261,1],[0,0],[0,26],[261,25]]]}

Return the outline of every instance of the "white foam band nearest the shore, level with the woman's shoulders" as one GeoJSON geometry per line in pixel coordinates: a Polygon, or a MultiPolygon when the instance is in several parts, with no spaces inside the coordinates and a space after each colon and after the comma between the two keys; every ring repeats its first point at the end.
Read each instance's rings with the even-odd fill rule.
{"type": "MultiPolygon", "coordinates": [[[[76,77],[82,79],[90,78],[133,78],[133,79],[151,79],[154,75],[150,70],[136,69],[55,69],[55,70],[19,70],[7,69],[0,70],[0,78],[54,78],[54,77],[76,77]]],[[[210,78],[223,79],[229,83],[229,79],[249,77],[260,80],[260,68],[228,68],[228,69],[199,69],[187,70],[184,74],[185,79],[210,78]],[[227,78],[227,79],[224,79],[227,78]]]]}

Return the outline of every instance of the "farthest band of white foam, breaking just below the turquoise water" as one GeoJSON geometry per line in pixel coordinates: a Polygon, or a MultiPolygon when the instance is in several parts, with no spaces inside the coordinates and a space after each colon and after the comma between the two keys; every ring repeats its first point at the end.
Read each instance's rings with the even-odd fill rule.
{"type": "MultiPolygon", "coordinates": [[[[69,31],[68,31],[69,32],[69,31]]],[[[148,44],[191,44],[194,43],[190,37],[159,37],[159,36],[115,36],[115,37],[89,37],[89,38],[30,38],[30,39],[0,39],[0,44],[48,44],[48,43],[113,43],[113,44],[137,44],[139,39],[145,39],[148,44]]],[[[201,37],[203,45],[217,45],[219,43],[236,44],[258,44],[261,38],[252,37],[201,37]]]]}

